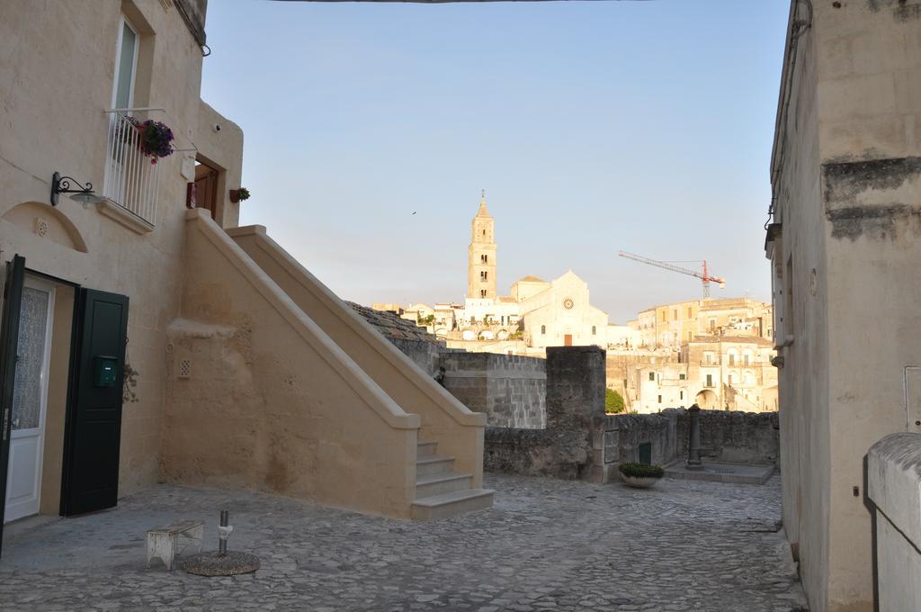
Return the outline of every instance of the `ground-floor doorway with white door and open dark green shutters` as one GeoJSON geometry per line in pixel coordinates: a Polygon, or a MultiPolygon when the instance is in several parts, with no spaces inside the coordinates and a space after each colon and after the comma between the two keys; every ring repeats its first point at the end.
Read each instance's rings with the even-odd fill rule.
{"type": "Polygon", "coordinates": [[[34,514],[118,496],[128,298],[6,265],[0,323],[0,544],[34,514]]]}

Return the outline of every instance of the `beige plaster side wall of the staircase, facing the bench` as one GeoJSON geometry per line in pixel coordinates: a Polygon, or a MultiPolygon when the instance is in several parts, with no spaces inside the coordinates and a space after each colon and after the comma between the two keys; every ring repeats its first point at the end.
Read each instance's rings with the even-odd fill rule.
{"type": "Polygon", "coordinates": [[[419,418],[206,212],[187,217],[195,265],[169,328],[162,476],[408,517],[419,418]]]}

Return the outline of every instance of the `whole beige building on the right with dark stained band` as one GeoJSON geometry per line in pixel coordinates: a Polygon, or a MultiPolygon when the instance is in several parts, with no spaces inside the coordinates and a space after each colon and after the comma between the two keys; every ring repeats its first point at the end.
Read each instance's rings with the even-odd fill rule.
{"type": "MultiPolygon", "coordinates": [[[[865,458],[886,434],[921,431],[919,41],[914,1],[791,3],[765,247],[784,528],[815,611],[918,602],[884,606],[894,593],[874,587],[884,568],[865,458]]],[[[914,512],[917,525],[917,486],[900,493],[893,481],[902,501],[887,516],[914,512]]],[[[895,537],[918,542],[906,529],[895,537]]],[[[915,597],[918,559],[915,544],[889,565],[915,568],[915,597]]]]}

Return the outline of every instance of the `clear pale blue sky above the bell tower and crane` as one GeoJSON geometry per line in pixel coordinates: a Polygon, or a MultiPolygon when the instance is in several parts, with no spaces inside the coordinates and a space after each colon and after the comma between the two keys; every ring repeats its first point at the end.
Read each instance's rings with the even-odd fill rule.
{"type": "Polygon", "coordinates": [[[462,301],[485,188],[501,294],[572,268],[625,323],[701,286],[618,250],[768,300],[788,6],[212,0],[202,95],[245,134],[240,223],[343,298],[462,301]]]}

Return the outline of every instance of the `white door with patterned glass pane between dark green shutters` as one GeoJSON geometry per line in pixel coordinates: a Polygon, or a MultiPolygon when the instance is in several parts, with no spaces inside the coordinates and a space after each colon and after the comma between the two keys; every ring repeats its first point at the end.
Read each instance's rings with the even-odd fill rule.
{"type": "Polygon", "coordinates": [[[6,523],[39,512],[53,309],[53,286],[26,277],[19,314],[16,382],[10,414],[6,523]]]}

